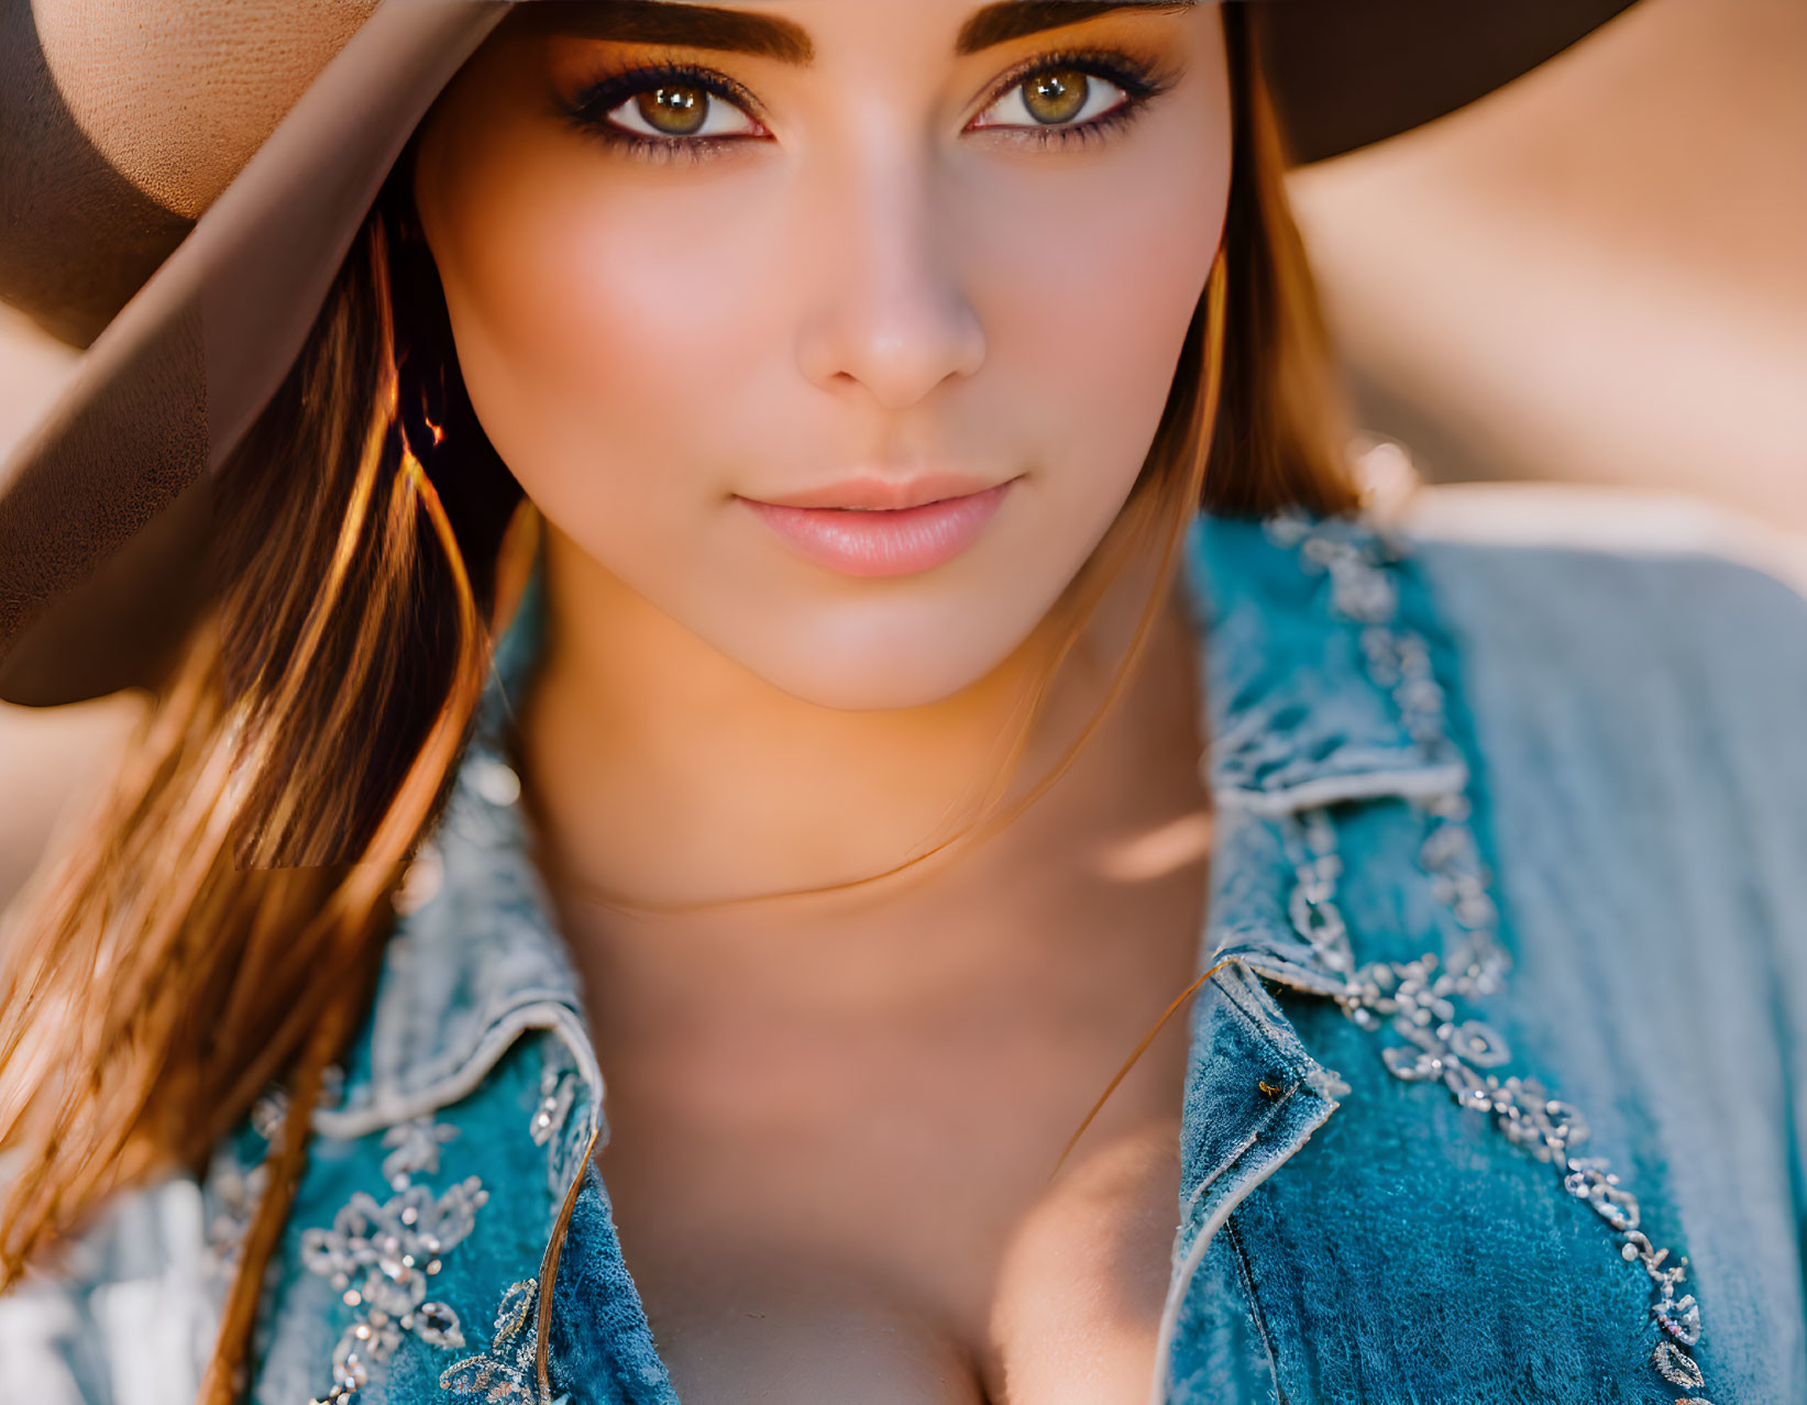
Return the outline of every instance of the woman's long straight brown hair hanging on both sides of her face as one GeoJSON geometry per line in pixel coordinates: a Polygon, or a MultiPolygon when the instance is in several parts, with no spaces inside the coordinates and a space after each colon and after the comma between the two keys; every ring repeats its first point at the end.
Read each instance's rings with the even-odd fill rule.
{"type": "MultiPolygon", "coordinates": [[[[1147,464],[1075,582],[1075,632],[1131,554],[1158,551],[1167,578],[1198,507],[1357,502],[1254,36],[1240,7],[1223,22],[1223,242],[1147,464]]],[[[289,1085],[210,1400],[237,1389],[309,1111],[470,739],[522,556],[504,536],[520,489],[464,395],[407,168],[219,475],[211,607],[0,941],[0,1145],[16,1167],[0,1288],[116,1188],[204,1165],[264,1085],[289,1085]]]]}

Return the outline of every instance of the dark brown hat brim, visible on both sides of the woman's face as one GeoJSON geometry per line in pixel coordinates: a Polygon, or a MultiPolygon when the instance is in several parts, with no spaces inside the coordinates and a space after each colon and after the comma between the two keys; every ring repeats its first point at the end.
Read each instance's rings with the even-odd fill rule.
{"type": "MultiPolygon", "coordinates": [[[[1478,98],[1628,4],[1259,9],[1294,152],[1319,159],[1478,98]]],[[[161,677],[210,583],[211,473],[293,365],[414,128],[511,7],[378,5],[81,358],[0,471],[0,701],[161,677]]]]}

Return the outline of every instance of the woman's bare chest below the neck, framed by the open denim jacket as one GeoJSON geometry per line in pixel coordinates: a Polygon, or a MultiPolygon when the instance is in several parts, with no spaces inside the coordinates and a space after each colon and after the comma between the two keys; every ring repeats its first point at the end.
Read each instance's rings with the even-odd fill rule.
{"type": "Polygon", "coordinates": [[[1196,757],[1182,708],[1131,699],[1046,805],[913,894],[578,943],[598,1170],[687,1405],[1146,1398],[1184,1011],[1050,1172],[1196,973],[1196,757]]]}

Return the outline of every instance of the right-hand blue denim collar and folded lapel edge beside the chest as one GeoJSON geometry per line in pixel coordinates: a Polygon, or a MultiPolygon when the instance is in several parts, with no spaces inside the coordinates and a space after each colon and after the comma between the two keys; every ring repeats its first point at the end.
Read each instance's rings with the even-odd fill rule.
{"type": "MultiPolygon", "coordinates": [[[[1303,901],[1306,816],[1373,800],[1446,807],[1469,784],[1431,666],[1428,641],[1440,634],[1429,594],[1373,524],[1198,515],[1184,571],[1216,816],[1200,972],[1218,970],[1191,1010],[1180,1230],[1151,1405],[1209,1380],[1194,1338],[1222,1304],[1205,1302],[1209,1282],[1193,1286],[1216,1230],[1348,1094],[1265,984],[1344,990],[1303,901]]],[[[1415,856],[1386,861],[1400,863],[1404,887],[1428,881],[1415,856]]]]}

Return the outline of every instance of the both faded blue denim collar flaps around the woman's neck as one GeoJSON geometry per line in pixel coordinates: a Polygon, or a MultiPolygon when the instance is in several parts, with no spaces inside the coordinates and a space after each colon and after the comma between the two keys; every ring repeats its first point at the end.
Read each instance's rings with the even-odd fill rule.
{"type": "MultiPolygon", "coordinates": [[[[1397,656],[1402,636],[1382,627],[1411,625],[1424,609],[1415,600],[1422,592],[1399,589],[1404,560],[1399,542],[1359,516],[1200,513],[1189,524],[1182,571],[1200,632],[1209,737],[1200,764],[1222,811],[1283,814],[1465,786],[1437,683],[1422,659],[1397,656]]],[[[524,695],[542,639],[535,571],[497,645],[448,807],[403,885],[343,1100],[316,1116],[331,1136],[457,1102],[526,1029],[564,1038],[600,1118],[602,1075],[576,973],[506,760],[511,704],[524,695]]]]}

